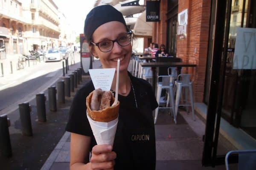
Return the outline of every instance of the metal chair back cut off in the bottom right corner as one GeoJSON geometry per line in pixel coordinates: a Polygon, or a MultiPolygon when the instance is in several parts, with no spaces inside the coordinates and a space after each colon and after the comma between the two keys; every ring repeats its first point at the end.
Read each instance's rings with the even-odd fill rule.
{"type": "Polygon", "coordinates": [[[231,150],[225,156],[226,170],[229,170],[230,155],[238,154],[239,170],[256,170],[256,150],[231,150]]]}

